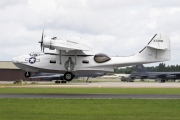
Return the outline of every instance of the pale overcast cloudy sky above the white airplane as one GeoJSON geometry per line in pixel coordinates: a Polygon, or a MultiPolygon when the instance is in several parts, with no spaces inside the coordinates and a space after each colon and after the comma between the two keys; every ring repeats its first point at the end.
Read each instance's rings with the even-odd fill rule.
{"type": "Polygon", "coordinates": [[[179,0],[0,0],[0,61],[40,52],[43,29],[46,36],[87,39],[109,56],[135,54],[164,33],[172,46],[165,63],[180,64],[179,0]]]}

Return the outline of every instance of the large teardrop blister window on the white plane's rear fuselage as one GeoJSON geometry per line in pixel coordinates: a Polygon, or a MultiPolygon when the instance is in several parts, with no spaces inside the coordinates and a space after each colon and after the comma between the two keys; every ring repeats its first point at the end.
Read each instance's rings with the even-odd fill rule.
{"type": "Polygon", "coordinates": [[[94,56],[94,60],[95,60],[97,63],[104,63],[104,62],[107,62],[107,61],[111,60],[111,58],[108,57],[108,56],[105,55],[105,54],[99,53],[99,54],[96,54],[96,55],[94,56]]]}

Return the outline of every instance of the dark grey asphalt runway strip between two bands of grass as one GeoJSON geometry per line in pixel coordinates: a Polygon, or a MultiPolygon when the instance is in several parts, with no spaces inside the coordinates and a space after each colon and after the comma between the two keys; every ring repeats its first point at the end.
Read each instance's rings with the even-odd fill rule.
{"type": "Polygon", "coordinates": [[[180,95],[149,94],[0,94],[0,98],[60,99],[180,99],[180,95]]]}

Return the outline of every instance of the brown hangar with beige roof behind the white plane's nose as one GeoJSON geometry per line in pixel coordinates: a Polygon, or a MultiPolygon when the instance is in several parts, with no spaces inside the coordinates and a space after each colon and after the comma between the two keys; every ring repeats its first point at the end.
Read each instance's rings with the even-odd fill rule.
{"type": "Polygon", "coordinates": [[[0,81],[39,81],[24,76],[24,71],[16,67],[11,61],[0,61],[0,81]]]}

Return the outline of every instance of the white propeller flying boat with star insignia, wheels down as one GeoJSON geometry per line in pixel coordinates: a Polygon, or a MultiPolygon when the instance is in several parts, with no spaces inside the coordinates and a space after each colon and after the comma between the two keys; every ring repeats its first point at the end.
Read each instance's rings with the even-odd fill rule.
{"type": "Polygon", "coordinates": [[[31,72],[62,74],[64,80],[75,76],[99,76],[113,72],[115,67],[162,62],[171,59],[170,39],[166,35],[155,34],[150,42],[138,53],[128,57],[109,57],[105,54],[89,54],[92,47],[78,38],[45,37],[42,33],[41,53],[30,53],[13,58],[13,63],[31,72]],[[56,49],[56,53],[44,53],[44,48],[56,49]]]}

